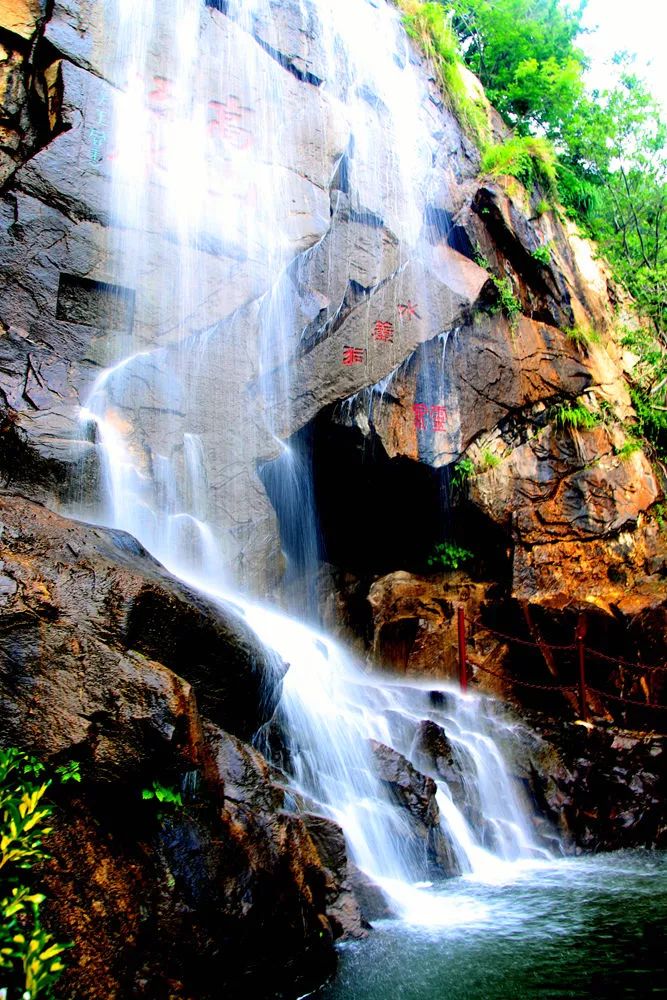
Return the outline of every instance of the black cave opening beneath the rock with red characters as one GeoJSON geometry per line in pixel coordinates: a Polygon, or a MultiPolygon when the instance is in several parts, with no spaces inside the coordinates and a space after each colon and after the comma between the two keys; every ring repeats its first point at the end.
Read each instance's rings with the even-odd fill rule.
{"type": "Polygon", "coordinates": [[[377,435],[364,437],[335,423],[332,414],[333,407],[323,410],[289,442],[312,474],[312,501],[305,502],[305,486],[301,504],[288,501],[279,461],[260,470],[288,559],[307,565],[308,522],[314,518],[316,557],[356,574],[432,571],[427,560],[435,545],[454,538],[473,551],[476,570],[492,566],[496,574],[507,574],[504,537],[468,505],[450,507],[449,468],[389,458],[377,435]]]}

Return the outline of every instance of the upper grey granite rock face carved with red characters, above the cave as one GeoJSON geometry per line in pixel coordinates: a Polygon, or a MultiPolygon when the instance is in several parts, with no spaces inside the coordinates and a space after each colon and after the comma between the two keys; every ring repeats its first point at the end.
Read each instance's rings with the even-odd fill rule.
{"type": "MultiPolygon", "coordinates": [[[[611,461],[609,448],[621,446],[620,424],[632,420],[632,409],[604,267],[572,226],[553,212],[537,214],[539,192],[477,176],[478,154],[427,72],[415,90],[415,115],[426,136],[417,153],[432,163],[429,196],[410,203],[382,102],[364,91],[353,122],[346,95],[331,86],[331,46],[314,5],[272,2],[247,23],[204,8],[201,63],[215,65],[212,54],[224,62],[225,94],[214,96],[219,81],[202,73],[197,99],[208,99],[209,113],[220,100],[232,102],[224,107],[236,131],[227,140],[242,138],[252,150],[259,173],[248,174],[248,184],[260,183],[265,164],[271,197],[236,190],[227,164],[214,192],[216,206],[231,199],[225,226],[215,212],[202,219],[194,249],[148,227],[127,287],[118,248],[136,234],[121,238],[112,190],[118,95],[126,86],[110,42],[121,31],[114,9],[100,17],[88,0],[59,0],[48,11],[26,0],[6,7],[0,25],[13,45],[0,91],[11,122],[0,203],[7,486],[52,507],[94,509],[103,490],[99,443],[80,406],[101,368],[129,348],[135,359],[113,397],[113,419],[146,469],[160,456],[182,468],[184,435],[199,436],[207,523],[244,586],[270,591],[283,570],[258,466],[277,457],[275,435],[299,431],[328,407],[334,421],[374,437],[390,459],[443,468],[489,449],[502,458],[511,496],[498,474],[480,477],[472,499],[515,546],[522,598],[532,599],[527,565],[539,561],[533,536],[542,522],[529,537],[508,522],[507,510],[530,498],[536,474],[545,489],[547,481],[555,488],[554,474],[564,484],[551,513],[540,508],[547,535],[563,519],[558,544],[575,544],[566,537],[573,517],[599,525],[595,539],[576,539],[582,553],[596,545],[596,561],[603,551],[613,561],[606,546],[621,531],[641,547],[642,515],[660,487],[639,454],[625,468],[611,461]],[[409,232],[415,225],[418,251],[409,232]],[[282,234],[277,281],[267,227],[282,234]],[[545,247],[548,263],[534,256],[545,247]],[[201,292],[185,322],[183,266],[197,273],[201,292]],[[503,314],[499,282],[518,316],[503,314]],[[267,342],[266,331],[278,327],[280,343],[275,334],[267,342]],[[594,336],[582,346],[572,330],[594,336]],[[176,400],[167,387],[184,351],[196,363],[176,400]],[[532,438],[553,407],[581,399],[605,408],[610,460],[596,472],[582,470],[577,449],[561,446],[557,469],[553,459],[529,460],[526,449],[535,455],[532,438]],[[641,486],[628,490],[623,483],[635,475],[641,486]]],[[[173,45],[167,15],[157,18],[146,55],[144,85],[158,123],[175,72],[165,56],[173,45]]],[[[395,46],[397,64],[411,61],[419,74],[406,39],[397,35],[395,46]]],[[[168,178],[158,169],[153,183],[159,212],[160,199],[170,197],[168,178]]],[[[545,441],[549,433],[537,436],[545,441]]],[[[547,542],[554,544],[541,539],[547,542]]],[[[569,550],[562,554],[574,572],[569,550]]]]}

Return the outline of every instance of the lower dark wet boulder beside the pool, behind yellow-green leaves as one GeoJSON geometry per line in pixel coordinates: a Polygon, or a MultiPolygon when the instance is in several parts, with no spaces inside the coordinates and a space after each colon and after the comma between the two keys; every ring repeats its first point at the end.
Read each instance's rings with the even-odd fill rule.
{"type": "Polygon", "coordinates": [[[207,724],[201,760],[182,805],[144,801],[126,782],[58,793],[42,878],[50,929],[75,943],[59,995],[268,997],[333,971],[340,892],[328,858],[280,808],[250,746],[207,724]]]}

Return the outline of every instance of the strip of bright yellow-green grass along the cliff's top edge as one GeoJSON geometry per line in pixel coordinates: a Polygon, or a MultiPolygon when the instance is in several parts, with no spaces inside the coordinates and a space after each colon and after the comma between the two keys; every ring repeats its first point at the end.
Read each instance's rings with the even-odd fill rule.
{"type": "Polygon", "coordinates": [[[490,134],[487,110],[469,93],[462,74],[463,61],[458,39],[445,8],[440,3],[420,3],[418,0],[396,0],[396,3],[403,11],[403,24],[408,35],[433,63],[443,97],[461,127],[482,146],[490,134]]]}

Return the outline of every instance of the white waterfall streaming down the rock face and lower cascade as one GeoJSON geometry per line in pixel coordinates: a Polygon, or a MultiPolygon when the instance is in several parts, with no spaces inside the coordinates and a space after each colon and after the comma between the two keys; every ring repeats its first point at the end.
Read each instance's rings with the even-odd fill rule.
{"type": "MultiPolygon", "coordinates": [[[[499,750],[508,728],[486,699],[366,673],[330,636],[249,597],[239,568],[251,535],[261,535],[244,519],[248,496],[257,521],[274,523],[263,513],[257,455],[267,469],[282,463],[276,506],[283,532],[299,539],[298,569],[308,577],[317,559],[308,470],[282,429],[301,330],[322,305],[320,295],[312,309],[305,298],[297,309],[293,286],[322,249],[341,198],[350,198],[352,218],[381,209],[400,241],[395,266],[413,268],[413,287],[427,303],[422,278],[431,249],[422,222],[436,150],[415,114],[421,85],[397,12],[383,0],[304,0],[290,8],[317,21],[322,106],[343,115],[353,145],[353,155],[345,154],[351,180],[330,204],[319,178],[330,184],[343,157],[323,163],[312,152],[314,181],[290,162],[290,149],[307,137],[294,74],[269,72],[270,46],[253,38],[272,16],[268,0],[230,2],[226,13],[201,0],[108,6],[118,38],[110,254],[119,284],[137,289],[137,309],[132,334],[109,338],[105,368],[82,411],[97,436],[105,495],[95,511],[77,513],[129,531],[171,572],[243,609],[289,664],[280,721],[295,797],[341,824],[352,859],[397,912],[450,920],[426,900],[432,859],[378,773],[377,747],[393,750],[396,766],[412,760],[437,780],[428,836],[445,838],[460,872],[490,879],[503,865],[547,857],[499,750]],[[371,113],[382,118],[388,160],[371,113]],[[297,197],[305,207],[293,208],[297,197]],[[259,332],[254,355],[251,329],[259,332]],[[452,782],[424,753],[426,723],[451,748],[452,782]]],[[[328,120],[321,126],[331,128],[328,120]]],[[[441,401],[446,378],[447,331],[434,333],[429,406],[441,401]]],[[[386,381],[379,385],[382,391],[386,381]]]]}

